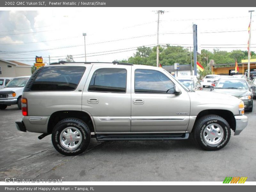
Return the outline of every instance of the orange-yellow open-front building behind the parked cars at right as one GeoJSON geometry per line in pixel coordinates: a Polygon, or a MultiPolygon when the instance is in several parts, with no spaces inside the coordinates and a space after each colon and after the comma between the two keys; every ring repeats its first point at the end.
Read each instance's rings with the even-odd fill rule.
{"type": "MultiPolygon", "coordinates": [[[[247,74],[248,70],[248,60],[242,60],[241,63],[238,63],[239,74],[247,74]]],[[[213,64],[212,67],[212,74],[216,75],[230,75],[230,71],[235,70],[235,63],[231,64],[213,64]]],[[[250,60],[250,70],[256,70],[256,59],[250,60]]]]}

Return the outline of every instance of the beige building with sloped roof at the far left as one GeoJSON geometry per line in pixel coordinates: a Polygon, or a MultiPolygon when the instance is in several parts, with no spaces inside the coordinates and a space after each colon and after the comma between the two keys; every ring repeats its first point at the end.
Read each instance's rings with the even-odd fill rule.
{"type": "Polygon", "coordinates": [[[32,65],[0,59],[0,77],[30,76],[32,65]]]}

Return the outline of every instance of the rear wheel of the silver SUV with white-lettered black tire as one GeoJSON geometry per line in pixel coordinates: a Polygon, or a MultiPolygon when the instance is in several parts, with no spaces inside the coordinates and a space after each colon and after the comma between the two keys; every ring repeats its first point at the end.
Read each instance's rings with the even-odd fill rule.
{"type": "Polygon", "coordinates": [[[90,140],[91,140],[91,132],[89,127],[84,123],[84,121],[77,118],[66,118],[61,120],[58,124],[55,125],[52,131],[52,144],[54,148],[58,152],[66,156],[78,155],[83,153],[87,149],[90,143],[90,140]],[[67,129],[70,129],[72,133],[65,131],[67,129]],[[75,133],[74,131],[77,131],[79,133],[80,140],[78,143],[75,143],[76,141],[73,137],[75,133]],[[61,138],[62,140],[61,140],[60,134],[61,135],[66,134],[67,137],[66,138],[62,137],[61,138]],[[70,135],[70,139],[68,134],[70,135]],[[75,142],[72,140],[72,138],[74,139],[75,142]],[[73,142],[72,144],[77,146],[75,148],[68,148],[68,144],[65,147],[64,142],[67,142],[67,143],[69,142],[68,144],[70,147],[72,147],[71,142],[73,142]]]}

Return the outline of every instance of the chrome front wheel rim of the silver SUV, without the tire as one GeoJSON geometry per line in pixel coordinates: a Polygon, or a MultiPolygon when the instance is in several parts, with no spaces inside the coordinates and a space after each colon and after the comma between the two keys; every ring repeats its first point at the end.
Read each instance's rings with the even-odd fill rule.
{"type": "Polygon", "coordinates": [[[222,141],[224,131],[219,124],[209,124],[204,128],[203,136],[209,146],[215,147],[222,141]]]}

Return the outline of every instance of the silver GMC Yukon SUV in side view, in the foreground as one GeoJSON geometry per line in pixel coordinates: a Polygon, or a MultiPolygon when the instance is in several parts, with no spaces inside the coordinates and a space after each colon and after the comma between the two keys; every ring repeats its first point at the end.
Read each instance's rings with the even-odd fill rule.
{"type": "Polygon", "coordinates": [[[35,71],[21,99],[20,131],[52,134],[64,155],[97,140],[178,140],[192,134],[206,150],[223,148],[247,125],[236,97],[189,91],[162,68],[129,63],[58,63],[35,71]]]}

